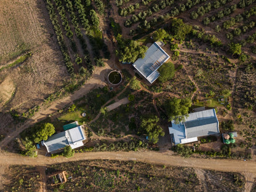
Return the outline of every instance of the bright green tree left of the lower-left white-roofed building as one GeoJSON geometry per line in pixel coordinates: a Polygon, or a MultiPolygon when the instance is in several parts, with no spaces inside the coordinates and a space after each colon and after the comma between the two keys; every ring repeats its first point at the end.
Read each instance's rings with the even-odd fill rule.
{"type": "Polygon", "coordinates": [[[46,122],[39,126],[39,129],[33,134],[34,142],[39,143],[41,140],[47,140],[48,137],[55,133],[54,125],[46,122]]]}

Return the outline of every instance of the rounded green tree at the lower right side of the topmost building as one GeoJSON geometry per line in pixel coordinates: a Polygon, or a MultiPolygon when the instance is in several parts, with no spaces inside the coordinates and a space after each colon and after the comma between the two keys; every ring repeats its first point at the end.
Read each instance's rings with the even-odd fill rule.
{"type": "Polygon", "coordinates": [[[164,63],[162,66],[158,69],[158,72],[160,73],[160,76],[158,80],[160,82],[166,82],[169,81],[174,77],[175,74],[175,67],[174,64],[171,62],[164,63]]]}

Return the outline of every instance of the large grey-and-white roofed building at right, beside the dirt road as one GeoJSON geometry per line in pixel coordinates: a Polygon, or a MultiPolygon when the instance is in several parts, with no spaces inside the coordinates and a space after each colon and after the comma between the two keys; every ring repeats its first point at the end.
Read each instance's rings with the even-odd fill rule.
{"type": "Polygon", "coordinates": [[[175,145],[197,142],[198,137],[218,134],[218,119],[214,109],[189,113],[185,122],[169,126],[170,139],[175,145]]]}

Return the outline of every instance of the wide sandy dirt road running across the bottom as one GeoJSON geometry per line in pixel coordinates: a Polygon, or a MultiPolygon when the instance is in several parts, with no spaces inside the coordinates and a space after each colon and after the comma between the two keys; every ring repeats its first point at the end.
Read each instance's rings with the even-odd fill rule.
{"type": "Polygon", "coordinates": [[[199,169],[211,169],[228,172],[241,172],[256,174],[255,161],[239,161],[232,159],[200,159],[182,158],[173,156],[172,151],[130,151],[130,152],[92,152],[76,153],[73,158],[47,158],[39,155],[38,158],[28,158],[9,153],[0,154],[0,164],[20,164],[33,166],[46,166],[60,162],[79,161],[86,159],[113,159],[121,161],[142,161],[172,166],[197,167],[199,169]]]}

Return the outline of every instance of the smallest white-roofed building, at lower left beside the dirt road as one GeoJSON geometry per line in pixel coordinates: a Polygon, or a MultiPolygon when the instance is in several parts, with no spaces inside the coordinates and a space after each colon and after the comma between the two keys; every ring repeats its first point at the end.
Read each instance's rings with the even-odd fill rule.
{"type": "Polygon", "coordinates": [[[68,127],[72,128],[67,129],[68,127],[65,127],[65,131],[54,134],[46,141],[42,141],[42,145],[46,146],[49,153],[55,153],[68,145],[70,145],[72,149],[84,145],[84,143],[82,143],[83,140],[86,140],[84,130],[82,129],[82,126],[76,125],[76,127],[73,127],[74,124],[76,124],[76,122],[72,123],[71,125],[69,124],[70,126],[68,127]]]}

